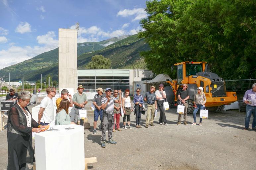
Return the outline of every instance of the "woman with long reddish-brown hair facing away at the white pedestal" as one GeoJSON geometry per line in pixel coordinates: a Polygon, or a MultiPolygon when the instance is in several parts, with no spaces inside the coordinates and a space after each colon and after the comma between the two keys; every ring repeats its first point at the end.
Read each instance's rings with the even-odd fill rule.
{"type": "Polygon", "coordinates": [[[55,125],[66,125],[66,124],[76,124],[75,122],[71,121],[68,108],[70,106],[70,102],[68,99],[63,99],[60,102],[59,108],[56,110],[56,119],[55,125]]]}

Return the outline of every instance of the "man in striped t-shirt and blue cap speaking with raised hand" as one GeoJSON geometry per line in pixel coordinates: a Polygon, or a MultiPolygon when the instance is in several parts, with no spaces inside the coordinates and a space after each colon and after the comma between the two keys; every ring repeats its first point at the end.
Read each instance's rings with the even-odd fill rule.
{"type": "Polygon", "coordinates": [[[112,139],[113,133],[113,123],[114,123],[114,103],[121,103],[122,99],[122,91],[119,92],[119,100],[111,96],[112,89],[106,88],[105,93],[106,97],[101,100],[101,108],[103,109],[103,118],[102,118],[102,133],[101,133],[101,148],[105,148],[105,140],[106,140],[106,128],[108,129],[108,143],[117,144],[112,139]]]}

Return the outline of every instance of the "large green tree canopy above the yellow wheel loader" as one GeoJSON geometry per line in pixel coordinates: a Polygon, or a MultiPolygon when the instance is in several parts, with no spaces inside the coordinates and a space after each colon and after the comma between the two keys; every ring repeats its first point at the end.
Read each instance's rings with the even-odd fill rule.
{"type": "Polygon", "coordinates": [[[211,72],[231,79],[256,78],[255,0],[153,0],[140,21],[151,50],[148,69],[174,76],[171,66],[206,61],[211,72]]]}

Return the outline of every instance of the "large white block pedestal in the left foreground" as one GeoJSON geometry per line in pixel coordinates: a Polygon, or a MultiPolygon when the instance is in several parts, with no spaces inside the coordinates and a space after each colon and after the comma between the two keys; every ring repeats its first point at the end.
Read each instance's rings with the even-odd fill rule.
{"type": "Polygon", "coordinates": [[[35,134],[36,170],[84,170],[84,127],[69,124],[54,129],[58,130],[35,134]]]}

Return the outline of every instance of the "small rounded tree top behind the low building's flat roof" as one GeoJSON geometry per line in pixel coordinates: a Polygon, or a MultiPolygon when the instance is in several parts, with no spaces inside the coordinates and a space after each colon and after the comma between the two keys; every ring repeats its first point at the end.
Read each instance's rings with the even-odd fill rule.
{"type": "Polygon", "coordinates": [[[87,64],[86,68],[90,69],[110,69],[111,60],[103,57],[103,55],[95,55],[92,60],[87,64]]]}

